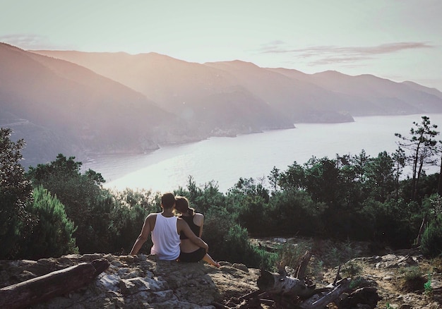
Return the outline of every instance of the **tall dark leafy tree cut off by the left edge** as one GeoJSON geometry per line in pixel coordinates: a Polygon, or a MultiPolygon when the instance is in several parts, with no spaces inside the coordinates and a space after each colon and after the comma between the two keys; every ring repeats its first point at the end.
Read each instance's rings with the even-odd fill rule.
{"type": "Polygon", "coordinates": [[[0,259],[16,257],[20,241],[35,224],[26,211],[32,201],[32,186],[20,164],[25,142],[14,143],[11,134],[11,129],[0,128],[0,259]]]}

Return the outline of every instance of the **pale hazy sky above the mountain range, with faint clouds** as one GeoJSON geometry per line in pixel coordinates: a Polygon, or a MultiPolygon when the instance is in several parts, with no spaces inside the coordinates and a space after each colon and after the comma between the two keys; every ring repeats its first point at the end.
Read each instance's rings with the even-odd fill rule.
{"type": "Polygon", "coordinates": [[[372,74],[442,91],[442,0],[0,0],[0,42],[372,74]]]}

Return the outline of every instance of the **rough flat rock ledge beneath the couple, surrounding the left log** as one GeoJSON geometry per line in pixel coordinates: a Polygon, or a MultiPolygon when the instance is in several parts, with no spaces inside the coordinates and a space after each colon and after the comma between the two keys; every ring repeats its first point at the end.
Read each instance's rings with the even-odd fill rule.
{"type": "Polygon", "coordinates": [[[110,265],[92,284],[33,308],[213,308],[210,304],[220,301],[220,293],[208,275],[213,267],[203,262],[156,261],[154,256],[145,255],[1,261],[1,287],[97,258],[108,260],[110,265]]]}

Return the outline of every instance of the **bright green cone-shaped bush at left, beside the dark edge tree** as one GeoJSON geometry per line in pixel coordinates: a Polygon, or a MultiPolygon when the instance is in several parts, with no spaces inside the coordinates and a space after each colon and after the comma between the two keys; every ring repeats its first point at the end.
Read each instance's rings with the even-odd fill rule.
{"type": "Polygon", "coordinates": [[[59,257],[69,253],[78,253],[76,240],[72,237],[76,228],[64,212],[64,205],[53,198],[42,186],[34,189],[34,201],[29,212],[38,223],[25,240],[23,257],[40,259],[42,257],[59,257]]]}

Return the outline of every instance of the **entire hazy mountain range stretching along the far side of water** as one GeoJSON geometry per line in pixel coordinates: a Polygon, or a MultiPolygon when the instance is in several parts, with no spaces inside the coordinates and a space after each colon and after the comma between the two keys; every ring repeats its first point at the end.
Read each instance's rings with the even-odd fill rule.
{"type": "Polygon", "coordinates": [[[25,51],[0,43],[0,126],[28,143],[28,164],[58,153],[146,152],[353,116],[442,112],[442,92],[336,71],[307,74],[155,52],[25,51]]]}

